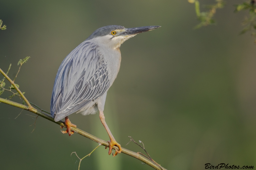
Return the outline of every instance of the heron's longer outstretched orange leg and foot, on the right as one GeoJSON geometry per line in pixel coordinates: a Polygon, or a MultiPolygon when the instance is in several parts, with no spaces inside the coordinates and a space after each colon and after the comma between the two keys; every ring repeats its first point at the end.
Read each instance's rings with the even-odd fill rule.
{"type": "Polygon", "coordinates": [[[104,116],[104,114],[103,114],[102,111],[100,111],[100,121],[101,121],[101,123],[103,124],[104,128],[107,130],[108,136],[109,136],[109,138],[110,138],[110,141],[108,141],[108,145],[109,145],[108,155],[111,154],[111,151],[112,151],[113,146],[116,145],[116,146],[119,148],[119,151],[116,150],[115,154],[113,155],[113,157],[114,157],[114,156],[117,155],[117,153],[121,153],[121,152],[122,152],[121,145],[118,144],[118,143],[116,142],[115,138],[113,137],[113,135],[112,135],[110,129],[108,128],[107,123],[105,122],[105,116],[104,116]]]}

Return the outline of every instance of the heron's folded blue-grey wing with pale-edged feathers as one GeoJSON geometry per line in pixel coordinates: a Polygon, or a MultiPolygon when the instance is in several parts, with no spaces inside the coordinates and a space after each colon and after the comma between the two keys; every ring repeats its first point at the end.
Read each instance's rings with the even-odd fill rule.
{"type": "Polygon", "coordinates": [[[61,63],[55,78],[51,115],[62,119],[98,99],[109,88],[107,65],[98,46],[84,41],[61,63]]]}

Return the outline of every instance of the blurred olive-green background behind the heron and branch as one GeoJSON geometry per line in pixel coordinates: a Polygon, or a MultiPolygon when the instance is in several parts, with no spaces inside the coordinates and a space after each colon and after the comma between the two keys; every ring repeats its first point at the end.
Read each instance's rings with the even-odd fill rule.
{"type": "MultiPolygon", "coordinates": [[[[245,12],[226,1],[216,26],[194,30],[194,5],[187,0],[1,1],[0,68],[17,73],[15,83],[27,99],[50,110],[52,87],[62,60],[94,30],[159,25],[120,48],[120,72],[108,91],[105,117],[117,142],[132,136],[166,169],[204,169],[204,164],[256,166],[256,46],[249,33],[238,36],[245,12]]],[[[205,3],[214,3],[208,1],[205,3]]],[[[1,97],[10,96],[4,92],[1,97]]],[[[22,103],[15,98],[13,101],[22,103]]],[[[28,111],[0,103],[0,169],[72,169],[97,143],[28,111]]],[[[99,114],[71,115],[72,123],[108,140],[99,114]]],[[[80,169],[152,169],[125,154],[115,158],[100,146],[80,169]]]]}

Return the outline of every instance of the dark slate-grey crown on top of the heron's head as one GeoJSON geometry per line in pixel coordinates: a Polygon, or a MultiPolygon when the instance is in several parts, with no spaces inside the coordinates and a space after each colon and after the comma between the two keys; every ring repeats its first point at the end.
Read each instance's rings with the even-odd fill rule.
{"type": "Polygon", "coordinates": [[[96,37],[101,37],[101,36],[104,36],[104,35],[110,35],[110,32],[112,30],[118,30],[118,29],[124,29],[123,26],[116,26],[116,25],[113,25],[113,26],[103,26],[99,29],[97,29],[96,31],[94,31],[92,33],[92,35],[90,35],[86,40],[91,40],[93,38],[96,38],[96,37]]]}

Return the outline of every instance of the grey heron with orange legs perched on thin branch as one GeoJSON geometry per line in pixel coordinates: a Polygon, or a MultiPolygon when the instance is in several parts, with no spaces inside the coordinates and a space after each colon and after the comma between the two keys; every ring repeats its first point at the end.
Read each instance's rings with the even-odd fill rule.
{"type": "Polygon", "coordinates": [[[70,127],[72,124],[68,115],[81,113],[83,115],[95,114],[98,109],[100,121],[108,132],[110,138],[109,151],[116,145],[122,152],[111,134],[103,114],[105,100],[109,87],[116,79],[121,63],[121,44],[137,35],[160,26],[143,26],[124,28],[123,26],[104,26],[92,33],[84,42],[78,45],[60,64],[55,78],[51,115],[54,120],[65,118],[66,131],[69,136],[74,134],[70,127]],[[96,107],[97,106],[97,107],[96,107]]]}

